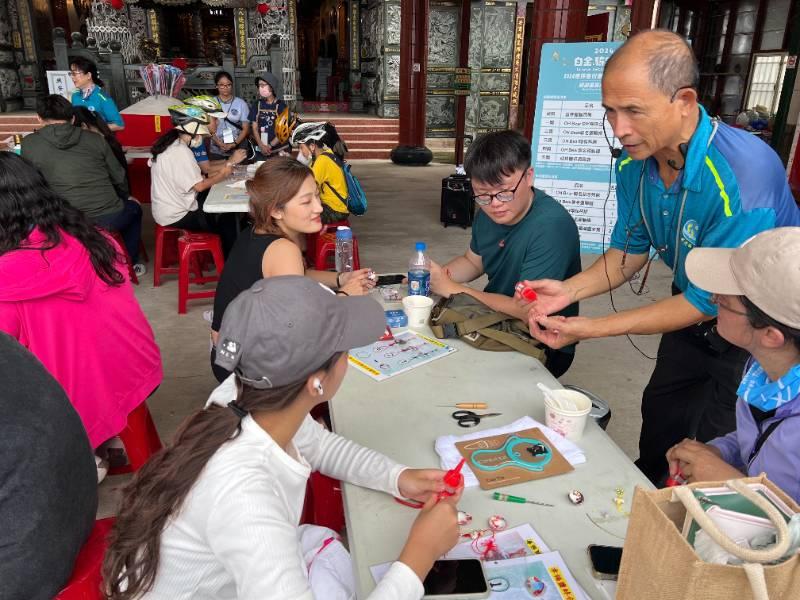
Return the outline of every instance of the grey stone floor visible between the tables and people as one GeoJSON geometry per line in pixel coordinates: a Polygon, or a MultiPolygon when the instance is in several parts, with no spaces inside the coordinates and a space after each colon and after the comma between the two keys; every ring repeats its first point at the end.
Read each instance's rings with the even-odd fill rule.
{"type": "MultiPolygon", "coordinates": [[[[451,173],[452,166],[399,167],[387,161],[355,161],[353,171],[370,203],[365,216],[352,219],[363,266],[377,272],[404,271],[417,240],[427,242],[431,257],[438,262],[446,262],[466,250],[470,230],[443,228],[439,223],[441,180],[451,173]]],[[[144,238],[152,265],[153,224],[147,209],[144,238]]],[[[596,258],[584,255],[584,266],[596,258]]],[[[669,294],[670,280],[667,268],[655,263],[648,281],[652,291],[637,297],[627,286],[620,288],[614,295],[617,309],[655,302],[669,294]]],[[[141,278],[136,295],[155,331],[164,361],[164,382],[149,406],[161,437],[167,440],[187,414],[203,406],[216,383],[208,360],[209,328],[202,316],[212,301],[190,301],[188,313],[178,315],[177,277],[168,276],[160,287],[154,288],[152,273],[141,278]]],[[[581,304],[584,316],[603,315],[610,310],[607,295],[581,304]]],[[[635,342],[650,356],[655,355],[658,336],[639,337],[635,342]]],[[[613,416],[608,431],[631,458],[637,456],[640,397],[653,364],[625,337],[593,340],[579,345],[575,362],[561,378],[563,383],[584,387],[609,402],[613,416]]],[[[502,393],[502,387],[498,393],[502,393]]],[[[110,477],[101,484],[99,516],[114,514],[119,489],[126,479],[110,477]]]]}

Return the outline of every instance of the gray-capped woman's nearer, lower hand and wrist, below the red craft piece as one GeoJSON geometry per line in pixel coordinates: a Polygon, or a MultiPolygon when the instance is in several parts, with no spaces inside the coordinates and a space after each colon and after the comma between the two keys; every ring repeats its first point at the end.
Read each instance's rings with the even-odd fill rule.
{"type": "Polygon", "coordinates": [[[411,526],[398,560],[411,568],[420,581],[425,579],[433,563],[458,543],[457,504],[462,491],[460,488],[453,496],[442,500],[431,494],[411,526]]]}

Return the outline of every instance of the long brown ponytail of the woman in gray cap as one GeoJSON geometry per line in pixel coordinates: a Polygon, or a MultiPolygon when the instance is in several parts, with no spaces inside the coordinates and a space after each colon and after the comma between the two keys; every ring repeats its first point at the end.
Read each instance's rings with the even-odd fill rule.
{"type": "MultiPolygon", "coordinates": [[[[329,368],[337,356],[321,368],[329,368]]],[[[305,383],[269,390],[240,385],[237,404],[248,412],[280,410],[297,398],[305,383]]],[[[229,408],[211,406],[195,412],[178,428],[172,444],[155,454],[125,486],[103,560],[107,598],[132,600],[152,588],[161,532],[168,519],[180,509],[214,453],[239,435],[240,426],[229,408]]]]}

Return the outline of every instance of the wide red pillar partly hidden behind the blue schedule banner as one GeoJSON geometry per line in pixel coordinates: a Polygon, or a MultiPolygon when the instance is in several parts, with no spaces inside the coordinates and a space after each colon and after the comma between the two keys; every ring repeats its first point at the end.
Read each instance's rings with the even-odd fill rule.
{"type": "Polygon", "coordinates": [[[534,4],[523,125],[523,133],[528,139],[533,135],[542,45],[549,42],[584,41],[588,9],[587,0],[536,0],[534,4]]]}

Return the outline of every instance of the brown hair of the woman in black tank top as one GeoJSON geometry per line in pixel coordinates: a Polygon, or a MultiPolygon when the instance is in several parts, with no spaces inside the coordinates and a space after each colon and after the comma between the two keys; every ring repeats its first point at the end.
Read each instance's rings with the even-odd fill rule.
{"type": "Polygon", "coordinates": [[[270,158],[261,165],[245,184],[250,194],[253,229],[283,235],[272,211],[286,206],[309,177],[313,178],[314,172],[290,156],[270,158]]]}

